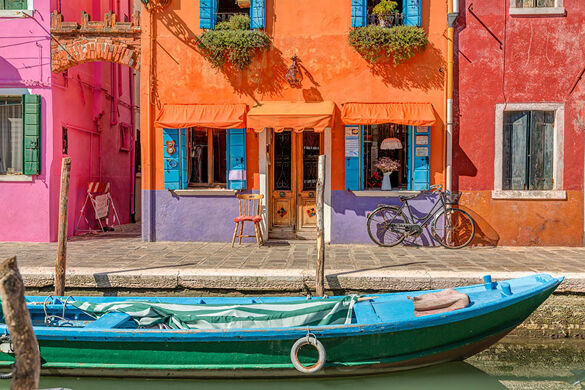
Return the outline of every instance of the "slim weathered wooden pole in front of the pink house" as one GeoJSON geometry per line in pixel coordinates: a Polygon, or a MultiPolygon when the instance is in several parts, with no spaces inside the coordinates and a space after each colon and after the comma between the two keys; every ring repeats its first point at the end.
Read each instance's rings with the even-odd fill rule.
{"type": "Polygon", "coordinates": [[[69,203],[69,177],[71,176],[71,157],[63,157],[61,162],[61,195],[59,199],[59,243],[57,264],[55,264],[55,295],[65,294],[65,265],[67,263],[67,204],[69,203]]]}

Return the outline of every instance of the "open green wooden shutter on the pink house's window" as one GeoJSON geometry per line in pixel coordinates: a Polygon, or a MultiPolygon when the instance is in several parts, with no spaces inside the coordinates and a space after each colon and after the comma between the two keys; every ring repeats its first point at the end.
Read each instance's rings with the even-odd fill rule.
{"type": "Polygon", "coordinates": [[[25,175],[41,173],[41,96],[22,96],[22,128],[24,133],[25,175]]]}

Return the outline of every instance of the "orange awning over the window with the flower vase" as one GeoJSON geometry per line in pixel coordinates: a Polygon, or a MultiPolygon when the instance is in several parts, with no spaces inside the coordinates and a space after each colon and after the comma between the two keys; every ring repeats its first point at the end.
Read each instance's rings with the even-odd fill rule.
{"type": "Polygon", "coordinates": [[[345,103],[341,119],[346,125],[433,126],[436,122],[431,103],[345,103]]]}

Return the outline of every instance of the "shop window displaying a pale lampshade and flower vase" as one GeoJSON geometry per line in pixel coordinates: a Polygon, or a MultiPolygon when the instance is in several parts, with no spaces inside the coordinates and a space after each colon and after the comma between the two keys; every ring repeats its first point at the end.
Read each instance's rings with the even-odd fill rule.
{"type": "Polygon", "coordinates": [[[408,126],[385,123],[364,126],[364,189],[379,190],[383,172],[391,170],[394,189],[408,186],[408,126]]]}

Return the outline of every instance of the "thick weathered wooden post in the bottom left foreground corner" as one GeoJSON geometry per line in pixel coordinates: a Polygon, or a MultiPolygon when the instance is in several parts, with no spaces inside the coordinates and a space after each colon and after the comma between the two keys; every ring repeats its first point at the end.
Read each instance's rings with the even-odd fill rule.
{"type": "Polygon", "coordinates": [[[10,335],[8,340],[2,340],[2,350],[14,350],[10,389],[38,389],[41,373],[39,344],[24,301],[24,283],[18,271],[16,257],[0,264],[0,298],[10,335]]]}

